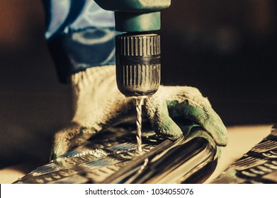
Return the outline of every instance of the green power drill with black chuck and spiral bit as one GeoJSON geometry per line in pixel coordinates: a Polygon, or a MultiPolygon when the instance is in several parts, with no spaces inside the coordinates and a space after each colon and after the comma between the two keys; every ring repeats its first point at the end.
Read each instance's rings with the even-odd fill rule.
{"type": "Polygon", "coordinates": [[[141,147],[142,105],[156,93],[161,80],[160,10],[171,0],[95,0],[101,8],[115,12],[116,82],[126,97],[136,100],[137,148],[141,147]]]}

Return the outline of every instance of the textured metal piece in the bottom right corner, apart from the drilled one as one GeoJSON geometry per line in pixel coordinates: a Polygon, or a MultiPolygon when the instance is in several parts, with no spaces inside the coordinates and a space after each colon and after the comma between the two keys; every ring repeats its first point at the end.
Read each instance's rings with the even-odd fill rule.
{"type": "Polygon", "coordinates": [[[213,183],[277,183],[277,129],[230,165],[213,183]]]}

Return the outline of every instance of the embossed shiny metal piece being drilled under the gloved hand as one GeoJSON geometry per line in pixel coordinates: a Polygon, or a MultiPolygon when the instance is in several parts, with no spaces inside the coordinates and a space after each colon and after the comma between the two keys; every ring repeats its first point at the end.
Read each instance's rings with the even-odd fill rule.
{"type": "Polygon", "coordinates": [[[118,127],[97,134],[88,144],[36,168],[15,183],[180,183],[195,173],[201,179],[207,177],[214,170],[207,165],[216,163],[216,159],[215,144],[207,139],[173,142],[152,131],[142,133],[142,151],[138,152],[136,131],[118,127]],[[210,171],[200,173],[204,167],[210,171]]]}

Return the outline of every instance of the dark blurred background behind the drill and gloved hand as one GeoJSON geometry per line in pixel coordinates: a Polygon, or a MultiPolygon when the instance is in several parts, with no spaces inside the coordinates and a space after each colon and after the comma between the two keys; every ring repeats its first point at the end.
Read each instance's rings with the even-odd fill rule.
{"type": "MultiPolygon", "coordinates": [[[[274,0],[172,0],[159,31],[162,83],[199,88],[227,126],[276,122],[276,8],[274,0]]],[[[0,1],[0,166],[45,160],[52,134],[72,118],[44,28],[40,1],[0,1]]]]}

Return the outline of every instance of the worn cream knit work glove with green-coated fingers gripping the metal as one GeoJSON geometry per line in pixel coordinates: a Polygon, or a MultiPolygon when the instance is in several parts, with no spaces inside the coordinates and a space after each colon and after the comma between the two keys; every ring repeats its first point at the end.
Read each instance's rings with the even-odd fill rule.
{"type": "MultiPolygon", "coordinates": [[[[72,122],[54,136],[51,159],[74,146],[84,144],[94,134],[121,122],[135,120],[132,98],[118,91],[115,66],[95,66],[71,76],[74,97],[72,122]]],[[[203,127],[217,146],[226,146],[227,129],[197,88],[160,86],[157,93],[145,99],[142,106],[152,129],[164,138],[176,140],[189,131],[179,127],[174,119],[190,121],[203,127]]],[[[134,122],[135,123],[135,122],[134,122]]]]}

